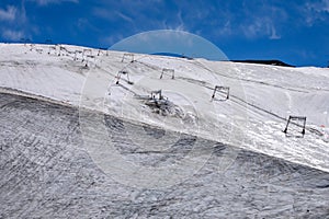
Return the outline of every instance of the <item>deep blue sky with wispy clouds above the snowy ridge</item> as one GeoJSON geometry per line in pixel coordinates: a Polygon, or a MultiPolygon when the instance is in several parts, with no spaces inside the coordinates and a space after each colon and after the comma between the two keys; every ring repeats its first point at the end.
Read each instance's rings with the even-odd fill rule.
{"type": "Polygon", "coordinates": [[[329,0],[1,0],[0,42],[111,47],[134,34],[184,31],[229,59],[329,65],[329,0]]]}

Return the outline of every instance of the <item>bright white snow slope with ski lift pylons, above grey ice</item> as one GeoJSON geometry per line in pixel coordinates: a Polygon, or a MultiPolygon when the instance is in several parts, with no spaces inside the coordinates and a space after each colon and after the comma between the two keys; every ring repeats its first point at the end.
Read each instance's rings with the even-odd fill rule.
{"type": "Polygon", "coordinates": [[[131,62],[124,53],[68,45],[0,44],[0,50],[2,92],[45,96],[329,171],[328,69],[137,54],[131,62]],[[164,72],[159,79],[163,68],[174,69],[175,78],[164,72]],[[116,84],[122,70],[128,76],[116,84]],[[230,99],[212,101],[215,85],[229,87],[230,99]],[[178,113],[163,116],[145,104],[160,89],[178,113]],[[305,138],[282,132],[288,115],[307,116],[305,138]]]}

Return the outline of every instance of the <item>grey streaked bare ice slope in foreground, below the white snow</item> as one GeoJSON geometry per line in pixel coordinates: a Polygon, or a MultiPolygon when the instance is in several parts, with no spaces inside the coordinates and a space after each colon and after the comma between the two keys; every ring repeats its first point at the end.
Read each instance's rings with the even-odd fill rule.
{"type": "MultiPolygon", "coordinates": [[[[136,174],[121,166],[123,178],[116,178],[83,149],[76,107],[0,93],[0,218],[328,218],[328,172],[198,139],[195,158],[212,151],[200,170],[166,187],[155,188],[151,181],[146,187],[136,181],[143,169],[175,165],[195,147],[194,136],[167,130],[171,138],[160,143],[177,141],[157,151],[137,142],[147,141],[140,130],[154,139],[161,130],[103,116],[116,151],[139,166],[136,174]],[[223,172],[229,152],[237,157],[223,172]]],[[[98,114],[83,116],[92,124],[98,114]]],[[[90,137],[100,148],[104,139],[94,137],[103,129],[94,125],[90,137]]]]}

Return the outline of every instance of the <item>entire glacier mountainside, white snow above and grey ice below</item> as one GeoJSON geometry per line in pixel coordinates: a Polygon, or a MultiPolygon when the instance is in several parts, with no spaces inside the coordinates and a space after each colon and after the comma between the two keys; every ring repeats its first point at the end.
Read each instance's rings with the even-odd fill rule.
{"type": "MultiPolygon", "coordinates": [[[[89,180],[104,182],[99,173],[101,170],[118,183],[111,181],[111,185],[91,186],[90,193],[104,191],[109,197],[120,197],[121,204],[134,196],[134,201],[141,201],[139,205],[144,207],[149,201],[164,201],[168,208],[158,206],[155,210],[159,217],[164,217],[169,210],[178,217],[290,216],[297,211],[297,216],[326,216],[329,212],[325,207],[329,204],[326,200],[329,195],[329,69],[184,59],[70,45],[0,44],[0,78],[4,115],[1,118],[4,148],[1,157],[5,158],[1,163],[4,171],[0,185],[3,187],[2,197],[5,197],[1,203],[7,204],[2,206],[3,217],[31,217],[35,212],[43,216],[43,211],[33,207],[15,214],[13,211],[20,207],[9,206],[11,200],[22,200],[21,197],[11,199],[18,187],[10,183],[20,184],[16,182],[20,174],[12,173],[19,165],[13,164],[18,162],[14,154],[21,151],[19,154],[24,154],[27,160],[34,158],[33,163],[37,166],[50,168],[48,162],[61,157],[48,155],[44,160],[41,157],[48,150],[57,151],[54,147],[73,154],[67,158],[69,163],[80,159],[79,162],[88,166],[97,164],[98,170],[94,166],[88,169],[90,174],[97,175],[89,180]],[[219,88],[214,92],[216,85],[223,90],[219,88]],[[11,106],[12,103],[19,105],[11,106]],[[54,110],[56,107],[60,108],[59,112],[54,110]],[[287,135],[283,132],[290,115],[306,116],[303,138],[303,127],[295,124],[290,124],[287,135]],[[65,131],[70,135],[65,135],[65,131]],[[55,138],[56,132],[60,137],[55,138]],[[45,141],[45,147],[37,152],[35,147],[39,141],[45,141]],[[26,152],[25,147],[30,146],[34,149],[26,152]],[[84,152],[77,152],[80,150],[84,152]],[[169,152],[161,157],[163,151],[169,152]],[[217,155],[214,158],[214,154],[217,155]],[[87,162],[88,159],[93,162],[87,162]],[[220,185],[220,189],[216,188],[219,182],[225,184],[220,185]],[[195,189],[197,183],[200,191],[195,189]],[[265,204],[271,206],[269,209],[259,203],[266,197],[258,191],[261,184],[266,183],[270,191],[265,192],[265,196],[275,193],[273,204],[265,204]],[[248,186],[249,191],[242,192],[248,186]],[[307,192],[296,192],[300,187],[307,192]],[[321,191],[314,192],[307,200],[303,199],[315,187],[321,191]],[[134,193],[137,188],[139,192],[134,193]],[[281,199],[285,189],[288,195],[281,199]],[[227,193],[228,196],[223,195],[222,200],[228,203],[212,203],[220,201],[218,194],[214,196],[214,191],[222,195],[227,193]],[[173,199],[166,199],[170,193],[175,194],[173,199]],[[242,197],[243,194],[256,199],[254,208],[247,205],[253,200],[242,197]],[[235,200],[234,196],[241,199],[235,200]],[[181,198],[182,204],[177,203],[174,197],[181,198]],[[317,197],[318,203],[315,201],[317,197]],[[197,203],[198,198],[203,198],[202,204],[197,203]],[[292,208],[280,204],[287,205],[290,198],[295,201],[292,208]],[[237,204],[235,207],[234,203],[237,204]],[[213,204],[215,207],[208,208],[213,204]],[[223,211],[216,205],[222,206],[223,211]],[[319,215],[309,212],[307,207],[306,211],[305,205],[318,209],[319,215]],[[180,208],[185,212],[177,211],[180,208]]],[[[59,154],[57,152],[54,154],[59,154]]],[[[58,163],[54,166],[64,168],[58,163]]],[[[79,175],[78,169],[72,168],[72,171],[79,175]]],[[[47,177],[53,184],[52,176],[47,177]]],[[[70,176],[68,178],[63,181],[64,184],[69,182],[68,185],[75,187],[81,183],[70,176]]],[[[43,180],[33,181],[34,195],[41,185],[45,186],[43,180]]],[[[56,189],[61,187],[56,186],[56,189]]],[[[48,198],[49,189],[42,188],[42,197],[48,198]]],[[[24,191],[20,193],[27,194],[24,191]]],[[[59,191],[63,192],[63,188],[59,191]]],[[[110,201],[104,197],[101,199],[102,205],[110,201]]],[[[24,196],[23,200],[29,201],[29,197],[24,196]]],[[[38,206],[39,203],[42,198],[33,199],[33,205],[38,206]]],[[[101,206],[101,203],[98,204],[101,206]]],[[[148,207],[144,212],[131,204],[126,209],[118,208],[116,204],[113,204],[116,207],[91,206],[91,209],[104,208],[100,217],[112,208],[120,209],[113,216],[120,216],[120,212],[124,217],[151,216],[148,207]],[[135,210],[125,215],[129,209],[135,210]]],[[[56,216],[53,207],[44,216],[56,216]]],[[[78,211],[72,217],[79,216],[78,211]]],[[[57,216],[63,217],[60,214],[57,216]]]]}

